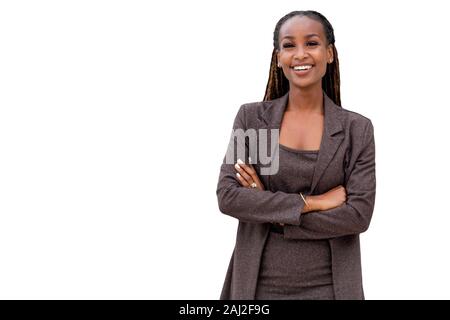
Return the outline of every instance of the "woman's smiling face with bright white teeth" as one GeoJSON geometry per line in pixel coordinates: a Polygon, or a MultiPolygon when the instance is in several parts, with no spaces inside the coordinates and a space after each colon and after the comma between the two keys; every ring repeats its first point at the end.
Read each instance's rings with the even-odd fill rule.
{"type": "Polygon", "coordinates": [[[279,46],[278,64],[291,88],[321,86],[327,64],[333,61],[333,49],[332,45],[327,46],[320,22],[306,16],[290,18],[280,28],[279,46]],[[302,67],[305,69],[295,70],[294,66],[305,66],[302,67]]]}

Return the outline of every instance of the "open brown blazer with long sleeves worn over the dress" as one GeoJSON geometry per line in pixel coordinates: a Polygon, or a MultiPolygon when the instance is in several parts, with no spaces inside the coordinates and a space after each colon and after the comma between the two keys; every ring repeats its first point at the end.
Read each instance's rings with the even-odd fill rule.
{"type": "MultiPolygon", "coordinates": [[[[233,129],[280,129],[288,95],[242,105],[233,129]]],[[[374,128],[370,119],[337,106],[325,92],[323,96],[324,131],[308,194],[343,185],[346,203],[300,215],[304,205],[300,196],[271,190],[270,175],[259,174],[262,164],[253,166],[266,190],[252,190],[239,184],[233,164],[224,158],[216,191],[219,209],[239,219],[239,225],[220,299],[255,298],[271,222],[285,224],[287,239],[328,239],[336,299],[364,299],[359,234],[369,227],[375,205],[374,128]]],[[[270,148],[270,139],[267,143],[270,148]]]]}

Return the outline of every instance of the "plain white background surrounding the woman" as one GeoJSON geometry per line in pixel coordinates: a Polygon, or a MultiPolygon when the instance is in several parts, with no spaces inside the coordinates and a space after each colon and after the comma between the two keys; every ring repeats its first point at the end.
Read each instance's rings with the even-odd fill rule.
{"type": "Polygon", "coordinates": [[[218,299],[237,221],[216,185],[276,22],[335,29],[375,128],[367,299],[449,299],[445,1],[2,1],[0,298],[218,299]]]}

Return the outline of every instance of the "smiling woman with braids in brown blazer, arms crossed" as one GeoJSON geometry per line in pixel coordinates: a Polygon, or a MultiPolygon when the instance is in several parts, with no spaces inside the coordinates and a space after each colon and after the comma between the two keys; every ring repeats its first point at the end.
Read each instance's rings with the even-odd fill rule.
{"type": "Polygon", "coordinates": [[[221,299],[364,299],[359,234],[375,204],[374,129],[341,107],[334,43],[316,11],[275,27],[264,101],[239,109],[217,185],[220,211],[239,219],[221,299]],[[240,146],[252,159],[230,162],[236,132],[250,130],[258,134],[240,146]],[[269,131],[275,142],[261,138],[269,131]],[[269,169],[255,156],[261,146],[269,169]]]}

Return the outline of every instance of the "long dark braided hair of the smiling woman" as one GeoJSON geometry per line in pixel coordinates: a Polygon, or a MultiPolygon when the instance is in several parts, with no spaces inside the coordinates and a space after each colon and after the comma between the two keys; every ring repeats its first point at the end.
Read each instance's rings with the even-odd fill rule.
{"type": "Polygon", "coordinates": [[[275,26],[273,32],[273,52],[272,61],[270,62],[269,80],[267,81],[266,93],[264,94],[264,101],[273,100],[283,96],[289,91],[289,81],[283,73],[281,68],[277,67],[277,50],[279,47],[280,28],[286,20],[294,16],[307,16],[320,22],[325,31],[327,38],[327,45],[333,45],[333,62],[327,64],[327,71],[322,78],[322,88],[336,105],[341,106],[341,92],[339,80],[339,60],[336,47],[334,45],[334,31],[330,22],[322,14],[317,11],[292,11],[282,17],[275,26]]]}

